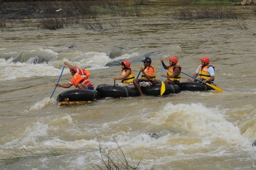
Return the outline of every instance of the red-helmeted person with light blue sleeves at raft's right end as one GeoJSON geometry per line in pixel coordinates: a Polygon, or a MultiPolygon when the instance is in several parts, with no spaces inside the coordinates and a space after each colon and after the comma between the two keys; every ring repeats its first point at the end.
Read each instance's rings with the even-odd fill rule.
{"type": "MultiPolygon", "coordinates": [[[[208,57],[202,57],[201,58],[201,65],[198,66],[196,69],[196,73],[193,75],[193,77],[197,77],[199,74],[198,79],[202,80],[203,83],[212,83],[215,78],[215,73],[214,73],[214,66],[210,66],[210,59],[208,57]]],[[[198,82],[194,78],[188,78],[188,82],[198,82]]]]}

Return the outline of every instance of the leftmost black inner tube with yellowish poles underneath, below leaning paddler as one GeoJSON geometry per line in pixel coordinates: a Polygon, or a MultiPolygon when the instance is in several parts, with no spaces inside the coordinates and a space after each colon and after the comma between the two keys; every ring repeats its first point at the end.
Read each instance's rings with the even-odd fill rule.
{"type": "Polygon", "coordinates": [[[57,103],[62,105],[87,104],[100,98],[96,90],[74,89],[61,92],[57,97],[57,103]]]}

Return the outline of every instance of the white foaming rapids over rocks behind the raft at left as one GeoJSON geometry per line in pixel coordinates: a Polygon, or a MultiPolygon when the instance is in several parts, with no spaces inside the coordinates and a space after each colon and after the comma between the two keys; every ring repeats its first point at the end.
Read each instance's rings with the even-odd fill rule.
{"type": "MultiPolygon", "coordinates": [[[[14,56],[16,55],[17,54],[14,56]]],[[[62,54],[62,57],[63,55],[64,54],[62,54]]],[[[24,62],[12,62],[14,59],[12,57],[8,60],[0,59],[0,81],[34,76],[59,76],[62,69],[62,67],[59,66],[60,64],[64,64],[64,61],[80,68],[95,70],[108,68],[106,64],[116,60],[139,56],[138,53],[133,53],[124,54],[120,57],[111,59],[104,52],[74,52],[65,55],[67,55],[67,58],[64,57],[63,60],[61,60],[60,54],[57,52],[54,52],[51,49],[39,48],[37,50],[27,50],[22,54],[19,54],[18,58],[24,60],[24,62]],[[44,56],[42,57],[42,63],[37,63],[38,60],[41,60],[40,56],[44,56]],[[60,60],[57,60],[57,58],[60,60]],[[44,62],[44,60],[46,62],[44,62]]],[[[11,56],[13,56],[13,54],[11,56]]],[[[69,74],[69,70],[64,69],[63,74],[69,74]]]]}

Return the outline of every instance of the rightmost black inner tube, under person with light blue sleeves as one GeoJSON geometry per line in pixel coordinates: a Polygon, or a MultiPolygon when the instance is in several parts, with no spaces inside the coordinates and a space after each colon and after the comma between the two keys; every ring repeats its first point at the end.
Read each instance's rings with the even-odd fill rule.
{"type": "Polygon", "coordinates": [[[191,90],[191,91],[208,91],[214,90],[210,86],[206,84],[198,83],[198,82],[182,82],[180,83],[181,90],[191,90]]]}

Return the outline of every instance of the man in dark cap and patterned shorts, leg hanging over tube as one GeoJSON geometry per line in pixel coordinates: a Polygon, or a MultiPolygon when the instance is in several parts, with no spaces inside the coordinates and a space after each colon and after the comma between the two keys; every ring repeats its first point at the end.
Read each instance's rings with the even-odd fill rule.
{"type": "Polygon", "coordinates": [[[139,91],[140,96],[144,96],[141,88],[152,86],[152,84],[154,84],[154,80],[156,79],[156,70],[154,66],[151,66],[151,58],[145,57],[142,62],[144,64],[144,68],[140,68],[140,71],[142,72],[141,79],[133,80],[133,84],[139,91]]]}

